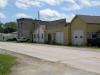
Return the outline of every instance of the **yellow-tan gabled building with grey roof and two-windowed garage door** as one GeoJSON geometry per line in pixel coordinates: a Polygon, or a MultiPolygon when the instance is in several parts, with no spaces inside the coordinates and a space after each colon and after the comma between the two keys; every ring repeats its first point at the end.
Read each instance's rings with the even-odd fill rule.
{"type": "Polygon", "coordinates": [[[100,31],[100,16],[76,15],[69,27],[65,27],[66,42],[72,45],[87,45],[88,39],[100,31]]]}

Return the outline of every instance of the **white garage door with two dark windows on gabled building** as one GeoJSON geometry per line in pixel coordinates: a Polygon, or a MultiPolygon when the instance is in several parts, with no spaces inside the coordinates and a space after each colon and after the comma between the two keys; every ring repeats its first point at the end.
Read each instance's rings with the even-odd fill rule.
{"type": "Polygon", "coordinates": [[[72,43],[73,45],[83,45],[83,30],[72,31],[72,43]]]}

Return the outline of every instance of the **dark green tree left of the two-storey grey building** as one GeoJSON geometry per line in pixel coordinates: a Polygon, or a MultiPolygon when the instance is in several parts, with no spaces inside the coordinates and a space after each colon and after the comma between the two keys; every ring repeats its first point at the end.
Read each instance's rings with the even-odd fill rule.
{"type": "Polygon", "coordinates": [[[12,33],[17,31],[17,23],[16,22],[7,22],[4,25],[4,33],[12,33]]]}

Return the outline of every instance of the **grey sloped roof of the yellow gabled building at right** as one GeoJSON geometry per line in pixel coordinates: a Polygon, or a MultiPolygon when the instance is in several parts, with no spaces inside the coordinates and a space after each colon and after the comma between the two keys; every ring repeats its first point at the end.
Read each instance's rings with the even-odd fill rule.
{"type": "Polygon", "coordinates": [[[90,15],[77,15],[77,16],[86,23],[100,24],[100,16],[90,16],[90,15]]]}

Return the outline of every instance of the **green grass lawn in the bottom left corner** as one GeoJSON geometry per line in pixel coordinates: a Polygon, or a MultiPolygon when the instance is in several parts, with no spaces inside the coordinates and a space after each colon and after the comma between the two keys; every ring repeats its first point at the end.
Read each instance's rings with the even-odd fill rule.
{"type": "Polygon", "coordinates": [[[10,75],[11,67],[16,63],[16,57],[0,54],[0,75],[10,75]]]}

